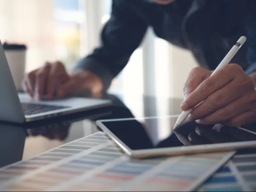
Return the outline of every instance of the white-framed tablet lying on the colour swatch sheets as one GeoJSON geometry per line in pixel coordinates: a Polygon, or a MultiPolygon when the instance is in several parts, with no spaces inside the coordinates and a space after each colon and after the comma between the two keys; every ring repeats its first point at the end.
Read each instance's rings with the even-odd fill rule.
{"type": "Polygon", "coordinates": [[[100,120],[96,124],[130,157],[183,155],[256,147],[256,133],[244,128],[199,125],[177,116],[100,120]]]}

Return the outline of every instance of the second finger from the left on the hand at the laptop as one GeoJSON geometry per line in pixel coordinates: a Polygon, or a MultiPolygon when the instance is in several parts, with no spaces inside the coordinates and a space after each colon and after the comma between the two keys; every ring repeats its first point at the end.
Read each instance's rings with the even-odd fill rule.
{"type": "Polygon", "coordinates": [[[50,65],[46,63],[45,66],[36,73],[35,96],[36,99],[42,100],[46,85],[46,79],[49,74],[50,65]]]}

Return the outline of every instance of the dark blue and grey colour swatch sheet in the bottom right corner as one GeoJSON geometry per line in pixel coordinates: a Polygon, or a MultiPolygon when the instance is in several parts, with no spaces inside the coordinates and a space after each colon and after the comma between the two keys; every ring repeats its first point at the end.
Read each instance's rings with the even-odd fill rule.
{"type": "Polygon", "coordinates": [[[256,154],[235,155],[199,191],[256,191],[256,154]]]}

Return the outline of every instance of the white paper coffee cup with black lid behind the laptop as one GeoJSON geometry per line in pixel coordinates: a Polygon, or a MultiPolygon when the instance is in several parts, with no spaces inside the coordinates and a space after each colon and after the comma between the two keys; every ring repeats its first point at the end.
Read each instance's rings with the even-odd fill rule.
{"type": "Polygon", "coordinates": [[[12,73],[17,91],[22,90],[21,81],[24,77],[26,67],[26,45],[23,44],[3,44],[9,68],[12,73]]]}

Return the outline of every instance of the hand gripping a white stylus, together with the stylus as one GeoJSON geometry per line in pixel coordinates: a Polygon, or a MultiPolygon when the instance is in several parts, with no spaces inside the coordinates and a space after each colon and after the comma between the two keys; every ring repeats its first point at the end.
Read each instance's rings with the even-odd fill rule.
{"type": "Polygon", "coordinates": [[[242,43],[233,46],[214,72],[203,68],[190,72],[181,104],[183,113],[174,129],[187,117],[199,124],[221,123],[235,127],[256,122],[254,81],[238,64],[228,64],[245,39],[238,40],[242,43]]]}

